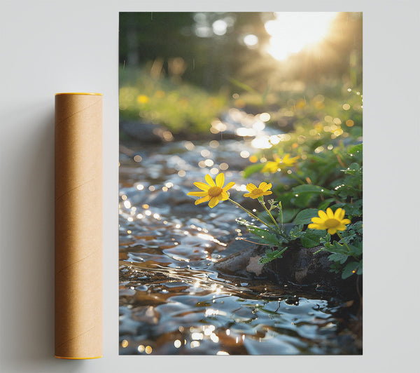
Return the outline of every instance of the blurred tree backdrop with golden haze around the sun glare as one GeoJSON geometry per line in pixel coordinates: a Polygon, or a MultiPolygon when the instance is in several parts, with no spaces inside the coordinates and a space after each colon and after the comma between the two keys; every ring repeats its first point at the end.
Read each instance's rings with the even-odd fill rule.
{"type": "Polygon", "coordinates": [[[265,22],[274,13],[120,13],[120,64],[148,64],[152,76],[167,74],[174,81],[182,76],[230,93],[238,83],[260,93],[293,80],[344,79],[356,86],[362,77],[361,14],[339,13],[316,53],[304,48],[280,62],[265,51],[270,39],[265,22]]]}

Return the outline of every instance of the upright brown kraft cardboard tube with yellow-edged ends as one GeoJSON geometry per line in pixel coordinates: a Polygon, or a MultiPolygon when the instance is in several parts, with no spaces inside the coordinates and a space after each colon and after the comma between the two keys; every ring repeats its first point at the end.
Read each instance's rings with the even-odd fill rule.
{"type": "Polygon", "coordinates": [[[55,357],[102,357],[102,95],[55,95],[55,357]]]}

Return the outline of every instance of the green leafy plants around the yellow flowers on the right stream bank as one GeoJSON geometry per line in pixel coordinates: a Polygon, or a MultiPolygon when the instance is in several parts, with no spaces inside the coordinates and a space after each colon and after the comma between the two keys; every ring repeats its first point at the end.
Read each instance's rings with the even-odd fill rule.
{"type": "MultiPolygon", "coordinates": [[[[283,221],[293,220],[295,224],[288,233],[278,225],[278,229],[272,226],[273,233],[267,229],[258,231],[255,226],[248,225],[248,231],[258,236],[259,243],[272,246],[272,250],[267,250],[260,259],[261,264],[281,258],[288,247],[300,243],[307,248],[321,246],[317,252],[329,252],[331,271],[342,273],[342,278],[363,273],[362,161],[363,144],[357,144],[347,148],[340,146],[330,153],[307,156],[306,161],[299,163],[299,172],[295,170],[299,176],[293,174],[295,182],[299,183],[300,177],[304,175],[314,175],[312,178],[317,177],[317,181],[324,180],[325,186],[299,183],[291,186],[290,191],[279,194],[279,215],[283,217],[283,221]],[[318,170],[321,176],[316,176],[314,170],[318,170]],[[332,208],[332,211],[342,208],[346,212],[346,217],[353,219],[353,224],[346,226],[346,230],[341,233],[337,232],[334,238],[338,239],[332,242],[331,235],[326,230],[307,228],[307,224],[311,224],[311,219],[318,217],[318,210],[327,208],[332,208]]],[[[245,175],[251,175],[261,169],[262,164],[251,165],[245,170],[245,175]]],[[[283,177],[289,175],[290,173],[284,173],[283,177]]],[[[272,182],[271,179],[269,181],[272,182]]],[[[281,189],[277,189],[277,192],[279,191],[281,189]]],[[[276,206],[274,201],[270,201],[270,205],[267,213],[276,206]]]]}

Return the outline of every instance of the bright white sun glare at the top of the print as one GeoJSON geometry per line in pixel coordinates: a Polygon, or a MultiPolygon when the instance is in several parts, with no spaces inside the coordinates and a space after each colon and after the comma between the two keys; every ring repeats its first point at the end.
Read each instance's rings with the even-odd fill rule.
{"type": "Polygon", "coordinates": [[[265,29],[271,35],[267,52],[281,61],[305,46],[314,45],[328,33],[336,15],[335,12],[276,13],[275,20],[265,22],[265,29]]]}

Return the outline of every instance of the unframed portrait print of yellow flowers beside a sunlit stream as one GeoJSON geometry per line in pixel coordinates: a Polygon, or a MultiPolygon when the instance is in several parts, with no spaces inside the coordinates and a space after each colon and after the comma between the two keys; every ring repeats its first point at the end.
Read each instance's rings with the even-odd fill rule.
{"type": "Polygon", "coordinates": [[[120,13],[120,355],[363,353],[362,13],[120,13]]]}

